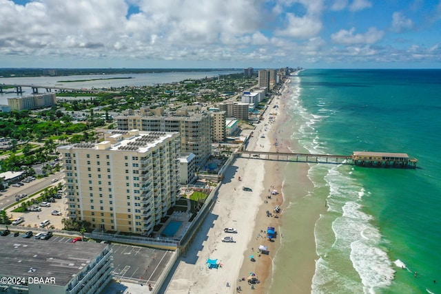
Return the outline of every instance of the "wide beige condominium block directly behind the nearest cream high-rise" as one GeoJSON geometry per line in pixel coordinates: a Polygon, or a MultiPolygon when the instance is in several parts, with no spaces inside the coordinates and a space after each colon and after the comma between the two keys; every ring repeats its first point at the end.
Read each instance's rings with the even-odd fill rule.
{"type": "Polygon", "coordinates": [[[196,165],[202,165],[212,153],[211,116],[208,112],[169,116],[116,116],[121,130],[140,129],[143,132],[178,132],[181,152],[196,155],[196,165]]]}

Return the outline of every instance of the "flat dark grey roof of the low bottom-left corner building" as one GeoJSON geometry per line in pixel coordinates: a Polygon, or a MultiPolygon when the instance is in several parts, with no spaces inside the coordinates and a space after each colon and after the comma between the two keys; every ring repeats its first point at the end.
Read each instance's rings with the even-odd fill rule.
{"type": "Polygon", "coordinates": [[[107,244],[94,242],[51,242],[34,238],[0,238],[0,276],[54,277],[55,284],[64,286],[80,273],[107,244]]]}

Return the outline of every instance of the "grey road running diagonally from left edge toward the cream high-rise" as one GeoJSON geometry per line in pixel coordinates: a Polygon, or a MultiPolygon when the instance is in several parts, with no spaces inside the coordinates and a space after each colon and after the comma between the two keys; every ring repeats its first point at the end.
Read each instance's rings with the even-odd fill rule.
{"type": "Polygon", "coordinates": [[[44,189],[45,187],[58,185],[59,181],[51,182],[52,179],[58,178],[59,180],[63,177],[63,173],[59,171],[56,174],[50,175],[48,178],[41,178],[39,180],[34,180],[32,182],[23,182],[24,186],[12,187],[10,186],[5,192],[1,192],[3,195],[0,196],[0,210],[5,209],[10,204],[17,202],[15,201],[15,196],[26,193],[28,196],[32,195],[44,189]]]}

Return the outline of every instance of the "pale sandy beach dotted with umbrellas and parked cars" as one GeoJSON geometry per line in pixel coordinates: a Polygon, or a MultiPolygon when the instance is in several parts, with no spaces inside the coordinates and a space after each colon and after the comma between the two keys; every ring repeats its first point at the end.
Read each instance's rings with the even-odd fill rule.
{"type": "MultiPolygon", "coordinates": [[[[272,99],[263,116],[264,120],[254,129],[247,150],[289,152],[289,149],[296,148],[291,145],[292,130],[283,129],[287,117],[282,114],[289,95],[289,85],[285,85],[282,95],[272,99]],[[269,116],[273,118],[272,121],[269,116]]],[[[216,204],[187,255],[178,261],[166,293],[237,293],[239,287],[241,293],[269,293],[274,257],[283,244],[283,233],[279,229],[283,224],[283,211],[278,218],[267,217],[266,211],[272,213],[276,205],[284,207],[281,191],[286,165],[286,162],[253,157],[237,158],[232,162],[218,190],[216,204]],[[238,180],[239,177],[241,180],[238,180]],[[249,187],[252,191],[243,191],[243,187],[249,187]],[[278,194],[268,198],[273,190],[278,191],[278,194]],[[269,226],[275,227],[277,232],[272,241],[266,235],[269,226]],[[225,233],[223,229],[226,227],[233,227],[238,233],[225,233]],[[236,242],[222,242],[226,236],[233,237],[236,242]],[[267,246],[269,254],[259,254],[260,245],[267,246]],[[254,262],[250,255],[253,255],[254,262]],[[221,266],[208,269],[208,258],[218,259],[221,266]],[[254,273],[260,281],[253,287],[247,282],[250,273],[254,273]],[[242,277],[245,277],[245,281],[240,281],[242,277]]],[[[309,189],[307,170],[307,165],[299,165],[296,175],[290,177],[295,182],[301,182],[298,186],[302,189],[297,192],[299,197],[304,197],[309,189]]],[[[312,229],[307,231],[307,242],[302,246],[308,251],[305,253],[307,260],[302,262],[303,274],[294,279],[298,288],[308,289],[307,292],[310,292],[314,275],[314,222],[311,225],[312,229]],[[311,236],[313,244],[309,242],[311,236]]]]}

